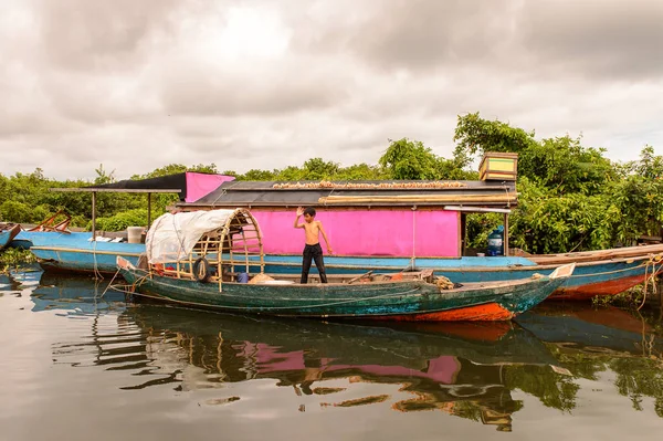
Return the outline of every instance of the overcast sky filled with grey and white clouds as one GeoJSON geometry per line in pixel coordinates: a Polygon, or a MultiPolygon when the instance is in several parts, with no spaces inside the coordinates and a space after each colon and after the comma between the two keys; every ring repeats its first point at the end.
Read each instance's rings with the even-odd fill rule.
{"type": "Polygon", "coordinates": [[[457,115],[663,154],[661,0],[0,0],[0,172],[453,150],[457,115]]]}

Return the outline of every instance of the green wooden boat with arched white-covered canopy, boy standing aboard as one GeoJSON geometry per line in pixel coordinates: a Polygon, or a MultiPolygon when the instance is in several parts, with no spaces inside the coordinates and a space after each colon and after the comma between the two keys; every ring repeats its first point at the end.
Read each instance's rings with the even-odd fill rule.
{"type": "Polygon", "coordinates": [[[134,293],[223,311],[319,318],[511,319],[548,297],[575,266],[448,290],[432,271],[330,277],[328,284],[280,281],[261,271],[249,283],[228,282],[229,273],[250,273],[250,258],[264,267],[260,228],[246,209],[164,214],[148,231],[146,249],[143,267],[117,258],[134,293]]]}

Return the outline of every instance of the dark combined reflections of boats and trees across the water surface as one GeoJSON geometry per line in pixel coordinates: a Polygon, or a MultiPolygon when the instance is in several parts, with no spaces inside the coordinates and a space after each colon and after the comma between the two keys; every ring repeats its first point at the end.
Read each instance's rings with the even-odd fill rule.
{"type": "MultiPolygon", "coordinates": [[[[624,410],[650,406],[663,417],[660,325],[617,308],[544,305],[517,323],[362,325],[127,303],[107,284],[22,273],[0,279],[0,293],[27,290],[32,313],[85,321],[82,335],[51,345],[52,363],[124,372],[116,387],[127,393],[270,379],[311,398],[294,412],[382,406],[386,419],[441,411],[512,431],[532,400],[573,414],[582,381],[610,374],[624,410]]],[[[202,405],[245,399],[227,393],[202,405]]]]}

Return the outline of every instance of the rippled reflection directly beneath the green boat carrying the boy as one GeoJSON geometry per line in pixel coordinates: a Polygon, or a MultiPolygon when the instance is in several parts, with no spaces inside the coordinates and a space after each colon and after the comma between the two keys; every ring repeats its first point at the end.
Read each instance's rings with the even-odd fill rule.
{"type": "Polygon", "coordinates": [[[504,369],[539,366],[543,375],[556,375],[547,368],[556,363],[548,349],[511,323],[365,326],[150,304],[126,309],[120,322],[148,333],[149,366],[159,367],[154,375],[179,378],[181,390],[272,378],[297,395],[318,397],[319,406],[390,401],[396,410],[440,409],[505,430],[522,405],[512,399],[504,369]],[[352,385],[367,382],[399,391],[386,387],[357,398],[361,389],[352,385]]]}

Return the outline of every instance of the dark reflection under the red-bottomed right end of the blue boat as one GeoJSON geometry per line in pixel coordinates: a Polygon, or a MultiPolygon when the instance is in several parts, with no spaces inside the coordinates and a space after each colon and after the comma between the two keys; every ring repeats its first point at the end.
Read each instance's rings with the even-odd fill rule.
{"type": "Polygon", "coordinates": [[[648,350],[645,337],[653,332],[627,311],[572,303],[539,305],[517,322],[544,342],[580,348],[582,353],[642,355],[648,350]]]}

